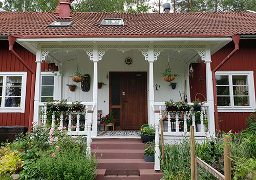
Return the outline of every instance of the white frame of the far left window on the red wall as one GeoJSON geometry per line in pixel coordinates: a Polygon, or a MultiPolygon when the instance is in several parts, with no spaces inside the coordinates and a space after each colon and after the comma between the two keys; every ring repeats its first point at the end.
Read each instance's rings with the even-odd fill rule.
{"type": "Polygon", "coordinates": [[[0,113],[25,113],[26,104],[26,87],[27,87],[27,73],[28,72],[0,72],[3,76],[3,92],[0,113]],[[22,92],[20,96],[20,107],[5,107],[5,93],[6,93],[6,77],[7,76],[22,76],[22,92]]]}

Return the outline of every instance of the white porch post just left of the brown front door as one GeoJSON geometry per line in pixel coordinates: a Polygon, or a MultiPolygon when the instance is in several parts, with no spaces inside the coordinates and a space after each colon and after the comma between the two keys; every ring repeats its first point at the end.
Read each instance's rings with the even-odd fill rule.
{"type": "Polygon", "coordinates": [[[93,102],[95,109],[93,112],[92,136],[97,136],[97,111],[98,111],[98,46],[93,46],[93,102]]]}

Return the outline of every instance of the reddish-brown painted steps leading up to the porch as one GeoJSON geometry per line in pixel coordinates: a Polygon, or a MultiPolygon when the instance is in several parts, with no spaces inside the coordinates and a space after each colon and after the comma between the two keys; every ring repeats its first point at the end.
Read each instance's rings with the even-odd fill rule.
{"type": "Polygon", "coordinates": [[[159,180],[154,162],[145,162],[141,139],[93,139],[92,153],[100,159],[95,180],[159,180]],[[101,158],[100,158],[101,157],[101,158]]]}

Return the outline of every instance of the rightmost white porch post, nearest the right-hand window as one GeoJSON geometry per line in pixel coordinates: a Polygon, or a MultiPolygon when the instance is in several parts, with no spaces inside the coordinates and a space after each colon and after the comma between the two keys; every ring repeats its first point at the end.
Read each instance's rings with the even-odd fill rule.
{"type": "MultiPolygon", "coordinates": [[[[205,52],[205,60],[206,64],[206,95],[207,101],[209,103],[208,107],[208,121],[209,121],[209,133],[211,136],[215,134],[215,119],[214,119],[214,91],[212,85],[212,73],[210,68],[211,58],[210,58],[210,45],[206,45],[206,52],[205,52]]],[[[218,119],[217,119],[218,120],[218,119]]]]}

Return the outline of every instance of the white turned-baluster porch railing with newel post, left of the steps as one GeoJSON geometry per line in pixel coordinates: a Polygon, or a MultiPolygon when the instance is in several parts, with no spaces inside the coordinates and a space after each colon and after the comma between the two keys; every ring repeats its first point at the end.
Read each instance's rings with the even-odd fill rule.
{"type": "MultiPolygon", "coordinates": [[[[67,102],[67,104],[72,104],[72,102],[67,102]]],[[[75,127],[75,131],[72,131],[72,111],[67,111],[66,113],[68,114],[68,135],[87,135],[87,153],[91,154],[91,129],[92,129],[92,125],[97,125],[97,121],[96,124],[92,124],[92,117],[93,117],[93,113],[95,112],[95,102],[81,102],[81,105],[85,106],[86,108],[84,109],[84,130],[80,131],[80,115],[82,114],[82,112],[78,111],[76,114],[76,127],[75,127]],[[88,107],[92,106],[92,110],[88,110],[88,107]]],[[[41,112],[43,112],[40,116],[39,116],[39,121],[37,122],[37,124],[46,124],[47,121],[47,106],[46,106],[46,102],[40,102],[39,104],[39,109],[41,110],[41,112]]],[[[97,111],[96,111],[97,113],[97,111]]],[[[63,114],[64,111],[60,111],[60,123],[59,123],[59,127],[63,127],[63,114]]],[[[53,111],[52,113],[52,124],[51,126],[54,127],[55,126],[55,111],[53,111]]]]}

